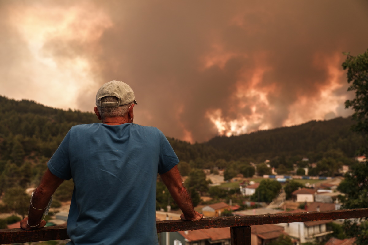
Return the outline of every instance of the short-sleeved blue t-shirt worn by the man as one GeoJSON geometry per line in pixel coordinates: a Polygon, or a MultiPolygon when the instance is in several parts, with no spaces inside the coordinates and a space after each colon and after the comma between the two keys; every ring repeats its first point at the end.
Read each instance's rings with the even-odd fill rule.
{"type": "Polygon", "coordinates": [[[47,163],[57,177],[74,181],[68,244],[158,244],[157,173],[178,162],[155,127],[72,127],[47,163]]]}

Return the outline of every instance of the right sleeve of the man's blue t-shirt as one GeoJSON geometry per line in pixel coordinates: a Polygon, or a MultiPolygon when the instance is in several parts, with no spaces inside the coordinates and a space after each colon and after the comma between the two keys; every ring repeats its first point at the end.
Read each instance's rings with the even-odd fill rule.
{"type": "Polygon", "coordinates": [[[179,163],[179,159],[176,156],[173,148],[164,134],[159,130],[160,133],[160,156],[158,173],[163,174],[172,169],[179,163]]]}

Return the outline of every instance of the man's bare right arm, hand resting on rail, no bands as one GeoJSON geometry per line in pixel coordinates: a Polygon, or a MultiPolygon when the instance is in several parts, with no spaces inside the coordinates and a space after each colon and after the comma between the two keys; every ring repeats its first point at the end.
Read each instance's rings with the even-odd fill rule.
{"type": "Polygon", "coordinates": [[[160,174],[160,176],[167,189],[169,189],[171,196],[174,198],[181,211],[183,211],[180,218],[190,221],[202,219],[203,215],[194,210],[192,199],[187,189],[185,189],[183,181],[181,181],[178,167],[174,166],[166,173],[160,174]]]}

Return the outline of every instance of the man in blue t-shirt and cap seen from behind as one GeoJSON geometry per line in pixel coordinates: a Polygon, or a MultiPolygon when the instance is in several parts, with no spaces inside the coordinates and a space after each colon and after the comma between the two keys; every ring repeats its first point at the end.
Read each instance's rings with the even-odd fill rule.
{"type": "Polygon", "coordinates": [[[128,84],[113,80],[102,85],[94,108],[102,123],[70,129],[47,163],[21,228],[45,226],[42,213],[53,192],[72,178],[68,245],[158,244],[157,173],[183,211],[181,219],[202,219],[181,181],[179,160],[166,137],[155,127],[133,123],[135,105],[128,84]]]}

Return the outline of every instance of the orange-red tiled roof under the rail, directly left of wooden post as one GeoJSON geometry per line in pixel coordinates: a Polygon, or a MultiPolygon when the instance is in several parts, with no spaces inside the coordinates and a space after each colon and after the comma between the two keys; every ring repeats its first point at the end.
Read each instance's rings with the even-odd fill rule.
{"type": "Polygon", "coordinates": [[[188,234],[185,234],[185,231],[178,231],[178,233],[189,242],[208,239],[210,239],[211,241],[230,239],[230,227],[187,231],[188,234]]]}

